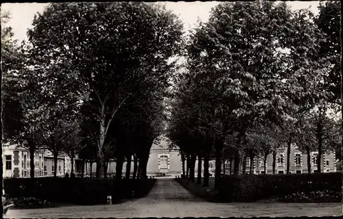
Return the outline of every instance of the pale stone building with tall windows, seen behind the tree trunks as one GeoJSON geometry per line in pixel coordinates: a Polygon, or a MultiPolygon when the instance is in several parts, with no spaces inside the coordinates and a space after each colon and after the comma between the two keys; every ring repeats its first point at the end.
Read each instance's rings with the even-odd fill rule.
{"type": "MultiPolygon", "coordinates": [[[[321,172],[336,172],[335,152],[322,154],[321,172]]],[[[30,177],[30,157],[27,149],[18,147],[16,145],[3,146],[3,177],[27,178],[30,177]]],[[[266,173],[272,174],[272,154],[268,155],[266,162],[266,173]]],[[[286,173],[287,168],[287,149],[282,149],[276,155],[275,173],[286,173]]],[[[307,155],[298,150],[292,144],[289,159],[289,171],[291,173],[305,173],[307,172],[307,155]]],[[[53,177],[54,172],[57,171],[58,177],[64,177],[68,172],[71,174],[71,159],[68,155],[61,154],[58,156],[58,164],[54,166],[54,156],[50,151],[37,151],[34,154],[34,176],[35,177],[53,177]]],[[[246,159],[246,173],[250,172],[250,159],[246,159]]],[[[73,169],[75,175],[80,176],[82,173],[82,165],[84,165],[84,177],[95,177],[96,164],[83,164],[83,162],[76,157],[74,159],[73,169]]],[[[255,157],[252,164],[252,172],[254,174],[263,174],[263,158],[255,157]]],[[[311,172],[317,172],[318,166],[318,152],[311,153],[311,172]]],[[[187,162],[185,162],[187,168],[187,162]]],[[[225,169],[225,174],[233,173],[230,162],[226,160],[222,164],[222,170],[225,169]]],[[[187,170],[187,169],[186,169],[187,170]]],[[[113,177],[116,171],[116,162],[111,160],[108,164],[108,177],[113,177]]],[[[134,162],[132,157],[131,175],[134,171],[134,162]]],[[[126,174],[126,162],[123,163],[123,176],[126,174]]],[[[152,145],[150,149],[150,157],[147,162],[147,176],[176,176],[182,174],[182,162],[178,149],[169,149],[169,143],[166,139],[160,140],[152,145]]],[[[196,175],[198,174],[198,160],[196,161],[196,175]]],[[[209,174],[215,175],[215,160],[209,162],[209,174]]],[[[204,175],[204,162],[202,162],[202,176],[204,175]]]]}

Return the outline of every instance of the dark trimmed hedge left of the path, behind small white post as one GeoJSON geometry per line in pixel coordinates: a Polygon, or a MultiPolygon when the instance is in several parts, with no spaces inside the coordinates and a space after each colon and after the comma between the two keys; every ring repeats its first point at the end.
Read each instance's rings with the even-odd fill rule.
{"type": "Polygon", "coordinates": [[[55,203],[96,205],[106,203],[108,195],[112,196],[114,203],[123,198],[145,196],[155,181],[156,179],[11,178],[4,179],[4,189],[10,198],[32,197],[55,203]]]}

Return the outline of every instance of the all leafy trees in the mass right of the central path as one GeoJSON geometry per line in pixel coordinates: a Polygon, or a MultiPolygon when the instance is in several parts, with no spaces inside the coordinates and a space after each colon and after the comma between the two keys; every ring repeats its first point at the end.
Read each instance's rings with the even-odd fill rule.
{"type": "Polygon", "coordinates": [[[276,155],[285,149],[289,173],[296,144],[308,155],[318,151],[320,172],[322,154],[342,146],[340,2],[321,3],[319,10],[314,16],[285,2],[220,3],[193,29],[168,127],[191,181],[196,157],[200,167],[204,162],[204,186],[215,159],[217,186],[223,160],[233,161],[239,175],[250,159],[251,174],[252,159],[265,164],[271,154],[275,172],[276,155]]]}

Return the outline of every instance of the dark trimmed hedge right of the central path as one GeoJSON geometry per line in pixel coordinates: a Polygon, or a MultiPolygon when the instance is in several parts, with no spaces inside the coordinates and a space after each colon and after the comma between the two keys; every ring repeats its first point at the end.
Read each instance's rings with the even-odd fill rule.
{"type": "MultiPolygon", "coordinates": [[[[342,191],[342,173],[241,175],[220,179],[216,201],[257,201],[297,192],[342,191]]],[[[341,198],[342,199],[342,198],[341,198]]]]}

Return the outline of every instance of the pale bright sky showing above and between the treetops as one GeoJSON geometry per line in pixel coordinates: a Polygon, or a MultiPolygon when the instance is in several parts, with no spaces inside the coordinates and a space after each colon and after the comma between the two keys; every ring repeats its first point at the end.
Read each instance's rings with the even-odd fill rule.
{"type": "MultiPolygon", "coordinates": [[[[185,30],[187,31],[196,24],[198,18],[206,22],[209,19],[209,12],[211,8],[217,5],[217,1],[194,1],[194,2],[166,2],[168,10],[177,14],[181,21],[183,21],[185,30]]],[[[314,14],[318,14],[319,1],[287,1],[293,10],[302,8],[309,8],[314,14]]],[[[12,27],[14,38],[17,40],[27,39],[26,31],[32,27],[32,20],[36,12],[43,12],[48,3],[2,3],[1,11],[10,11],[11,20],[8,25],[12,27]]]]}

